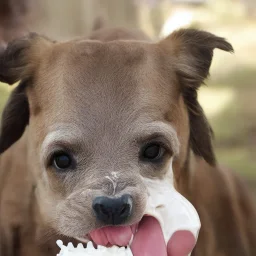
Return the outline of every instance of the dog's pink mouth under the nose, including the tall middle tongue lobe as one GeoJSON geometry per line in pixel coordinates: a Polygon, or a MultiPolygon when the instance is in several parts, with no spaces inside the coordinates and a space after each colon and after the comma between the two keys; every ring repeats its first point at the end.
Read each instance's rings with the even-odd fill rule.
{"type": "Polygon", "coordinates": [[[78,240],[92,241],[95,247],[130,246],[134,256],[167,255],[160,224],[151,216],[144,216],[139,223],[131,226],[108,226],[93,230],[89,235],[78,240]]]}

